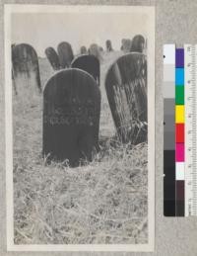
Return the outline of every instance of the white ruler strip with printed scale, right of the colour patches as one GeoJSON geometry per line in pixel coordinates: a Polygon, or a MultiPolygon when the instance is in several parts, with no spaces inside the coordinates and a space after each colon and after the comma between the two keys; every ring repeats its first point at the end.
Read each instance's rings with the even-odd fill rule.
{"type": "Polygon", "coordinates": [[[197,45],[184,45],[185,215],[197,215],[197,45]]]}

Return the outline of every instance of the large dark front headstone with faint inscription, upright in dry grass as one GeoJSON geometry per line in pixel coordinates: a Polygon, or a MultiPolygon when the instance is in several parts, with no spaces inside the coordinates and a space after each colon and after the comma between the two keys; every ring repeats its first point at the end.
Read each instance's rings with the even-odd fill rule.
{"type": "Polygon", "coordinates": [[[100,93],[95,79],[75,68],[53,75],[43,91],[43,156],[69,160],[74,167],[92,160],[99,140],[100,93]]]}

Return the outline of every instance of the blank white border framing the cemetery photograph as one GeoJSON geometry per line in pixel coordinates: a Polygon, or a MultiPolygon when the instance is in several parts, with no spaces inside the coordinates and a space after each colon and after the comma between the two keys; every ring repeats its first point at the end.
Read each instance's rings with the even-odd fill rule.
{"type": "Polygon", "coordinates": [[[4,5],[6,209],[8,251],[154,251],[155,248],[155,7],[105,5],[4,5]],[[148,16],[148,243],[14,244],[11,15],[13,13],[144,13],[148,16]]]}

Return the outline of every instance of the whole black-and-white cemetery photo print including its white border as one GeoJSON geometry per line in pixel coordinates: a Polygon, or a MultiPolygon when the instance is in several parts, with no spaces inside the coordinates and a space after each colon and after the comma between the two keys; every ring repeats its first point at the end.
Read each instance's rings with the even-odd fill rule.
{"type": "Polygon", "coordinates": [[[7,248],[153,251],[155,9],[6,5],[7,248]]]}

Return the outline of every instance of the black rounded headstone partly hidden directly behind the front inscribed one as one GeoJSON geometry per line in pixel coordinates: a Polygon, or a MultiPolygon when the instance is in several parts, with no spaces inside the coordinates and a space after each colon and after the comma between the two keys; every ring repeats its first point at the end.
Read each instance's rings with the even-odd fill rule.
{"type": "Polygon", "coordinates": [[[81,55],[72,61],[71,67],[88,72],[99,84],[99,59],[95,55],[81,55]]]}

